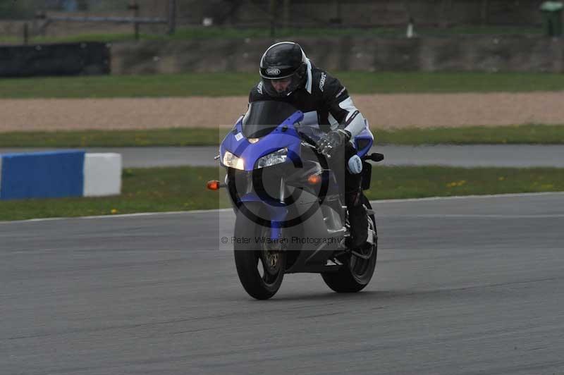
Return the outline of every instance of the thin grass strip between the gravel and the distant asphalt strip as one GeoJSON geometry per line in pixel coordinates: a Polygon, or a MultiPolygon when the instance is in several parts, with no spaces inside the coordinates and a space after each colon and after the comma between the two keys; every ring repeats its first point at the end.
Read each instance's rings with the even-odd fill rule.
{"type": "MultiPolygon", "coordinates": [[[[0,147],[214,146],[228,129],[82,130],[0,133],[0,147]]],[[[505,145],[564,143],[564,125],[472,126],[466,128],[373,129],[379,145],[505,145]]]]}

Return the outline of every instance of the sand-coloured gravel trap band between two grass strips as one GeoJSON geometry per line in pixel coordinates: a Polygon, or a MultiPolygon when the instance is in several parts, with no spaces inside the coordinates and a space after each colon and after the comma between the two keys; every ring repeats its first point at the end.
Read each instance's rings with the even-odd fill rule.
{"type": "MultiPolygon", "coordinates": [[[[353,94],[373,128],[564,124],[564,92],[353,94]]],[[[247,97],[1,99],[0,132],[231,126],[247,97]]]]}

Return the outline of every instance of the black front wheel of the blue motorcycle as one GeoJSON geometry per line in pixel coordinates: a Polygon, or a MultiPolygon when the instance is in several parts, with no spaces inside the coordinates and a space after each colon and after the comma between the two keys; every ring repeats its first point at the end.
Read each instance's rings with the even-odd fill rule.
{"type": "Polygon", "coordinates": [[[284,278],[286,252],[281,244],[262,241],[269,238],[270,231],[238,212],[235,219],[235,238],[238,240],[233,243],[235,266],[243,288],[257,300],[267,300],[275,295],[284,278]]]}

